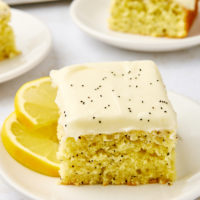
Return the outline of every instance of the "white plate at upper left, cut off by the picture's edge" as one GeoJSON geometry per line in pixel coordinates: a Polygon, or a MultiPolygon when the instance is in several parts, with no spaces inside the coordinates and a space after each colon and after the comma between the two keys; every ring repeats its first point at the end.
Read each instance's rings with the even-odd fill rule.
{"type": "Polygon", "coordinates": [[[51,35],[41,21],[17,9],[11,9],[11,13],[11,26],[16,35],[17,48],[22,54],[13,59],[0,61],[0,83],[37,66],[51,46],[51,35]]]}

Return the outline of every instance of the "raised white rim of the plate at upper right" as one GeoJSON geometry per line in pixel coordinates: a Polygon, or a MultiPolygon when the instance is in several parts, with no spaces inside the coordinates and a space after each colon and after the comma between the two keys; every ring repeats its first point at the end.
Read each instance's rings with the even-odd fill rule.
{"type": "MultiPolygon", "coordinates": [[[[126,34],[126,33],[117,32],[118,34],[128,35],[131,37],[137,36],[137,37],[140,37],[141,40],[144,38],[152,39],[147,42],[141,42],[141,40],[139,40],[139,39],[135,39],[135,40],[131,41],[131,40],[128,40],[125,38],[120,38],[118,36],[107,35],[105,33],[102,33],[101,31],[93,29],[92,27],[88,26],[82,20],[79,19],[76,12],[78,11],[79,4],[83,4],[84,1],[85,0],[74,0],[71,3],[70,15],[71,15],[73,21],[82,31],[86,32],[88,35],[90,35],[93,38],[98,39],[104,43],[107,43],[109,45],[116,46],[116,47],[123,48],[123,49],[128,49],[128,50],[135,50],[135,51],[139,51],[139,52],[170,52],[170,51],[177,51],[177,50],[187,49],[187,48],[191,48],[191,47],[200,45],[200,34],[197,36],[192,36],[192,37],[179,38],[179,39],[174,38],[173,39],[173,38],[162,38],[162,37],[159,38],[159,37],[143,36],[143,35],[139,35],[139,34],[126,34]],[[183,42],[180,43],[180,41],[183,41],[183,42]],[[120,43],[120,45],[118,45],[117,43],[120,43]],[[130,44],[131,44],[131,47],[127,46],[130,44]],[[170,45],[170,47],[165,47],[166,44],[170,45]],[[141,48],[141,47],[139,47],[139,45],[145,45],[145,47],[141,48]],[[160,45],[161,48],[153,50],[152,45],[160,45]]],[[[93,0],[93,1],[99,1],[99,0],[93,0]]],[[[200,13],[200,10],[199,10],[199,13],[200,13]]],[[[112,30],[109,30],[109,31],[116,33],[115,31],[112,31],[112,30]]]]}

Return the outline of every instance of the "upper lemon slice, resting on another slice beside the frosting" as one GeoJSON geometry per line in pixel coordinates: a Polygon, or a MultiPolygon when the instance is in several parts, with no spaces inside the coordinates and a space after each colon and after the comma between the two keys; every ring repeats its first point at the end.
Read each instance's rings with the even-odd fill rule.
{"type": "Polygon", "coordinates": [[[25,83],[15,96],[17,119],[29,127],[56,123],[58,120],[58,108],[54,102],[56,93],[49,77],[25,83]]]}

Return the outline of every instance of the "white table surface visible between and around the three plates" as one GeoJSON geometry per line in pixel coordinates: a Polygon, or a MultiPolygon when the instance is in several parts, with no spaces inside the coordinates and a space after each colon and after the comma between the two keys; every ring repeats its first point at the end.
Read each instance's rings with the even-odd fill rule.
{"type": "MultiPolygon", "coordinates": [[[[171,53],[140,53],[117,49],[81,32],[70,18],[69,7],[70,1],[16,7],[47,24],[53,36],[53,46],[47,58],[36,68],[0,84],[0,111],[2,108],[4,110],[0,114],[0,126],[13,111],[14,95],[23,83],[47,76],[51,69],[84,62],[152,59],[158,64],[167,89],[200,103],[200,46],[171,53]]],[[[28,198],[0,178],[0,200],[25,199],[28,198]]]]}

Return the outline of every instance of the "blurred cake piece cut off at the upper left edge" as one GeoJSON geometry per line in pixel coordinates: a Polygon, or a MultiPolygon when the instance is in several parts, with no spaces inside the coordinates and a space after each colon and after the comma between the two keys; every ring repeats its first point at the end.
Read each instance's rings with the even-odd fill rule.
{"type": "Polygon", "coordinates": [[[13,30],[8,24],[10,18],[9,7],[0,0],[0,60],[13,58],[20,53],[16,49],[13,30]]]}

